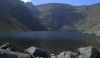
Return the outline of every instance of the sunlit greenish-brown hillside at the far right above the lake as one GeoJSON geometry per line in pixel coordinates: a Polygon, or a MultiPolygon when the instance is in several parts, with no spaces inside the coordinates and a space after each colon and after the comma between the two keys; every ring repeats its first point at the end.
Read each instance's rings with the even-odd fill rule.
{"type": "MultiPolygon", "coordinates": [[[[100,3],[79,7],[79,12],[86,14],[83,21],[77,24],[77,30],[99,34],[100,31],[100,3]]],[[[100,35],[100,34],[99,34],[100,35]]]]}

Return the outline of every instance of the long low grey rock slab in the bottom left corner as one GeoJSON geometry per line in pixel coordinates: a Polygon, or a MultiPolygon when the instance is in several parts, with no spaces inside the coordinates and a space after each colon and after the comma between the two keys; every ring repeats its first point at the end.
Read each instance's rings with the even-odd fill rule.
{"type": "Polygon", "coordinates": [[[30,58],[29,54],[0,49],[0,58],[30,58]]]}

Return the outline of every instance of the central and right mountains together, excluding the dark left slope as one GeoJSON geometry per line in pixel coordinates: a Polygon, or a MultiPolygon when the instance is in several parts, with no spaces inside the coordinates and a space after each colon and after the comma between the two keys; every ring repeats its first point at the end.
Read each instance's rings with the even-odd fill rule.
{"type": "Polygon", "coordinates": [[[100,3],[86,6],[48,3],[36,5],[36,8],[40,24],[48,30],[78,30],[88,33],[100,31],[100,3]]]}

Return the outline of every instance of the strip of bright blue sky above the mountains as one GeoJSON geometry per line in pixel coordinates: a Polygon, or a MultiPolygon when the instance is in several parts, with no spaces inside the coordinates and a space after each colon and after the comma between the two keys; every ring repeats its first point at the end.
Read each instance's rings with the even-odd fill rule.
{"type": "Polygon", "coordinates": [[[91,5],[100,3],[100,0],[23,0],[24,2],[32,2],[34,5],[46,4],[46,3],[66,3],[75,6],[91,5]]]}

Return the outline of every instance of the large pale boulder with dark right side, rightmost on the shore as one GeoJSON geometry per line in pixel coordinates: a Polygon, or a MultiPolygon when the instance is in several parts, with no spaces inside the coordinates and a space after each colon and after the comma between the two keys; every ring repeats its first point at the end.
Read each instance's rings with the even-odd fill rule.
{"type": "Polygon", "coordinates": [[[93,46],[79,48],[78,52],[83,56],[83,58],[100,58],[99,50],[93,46]]]}

